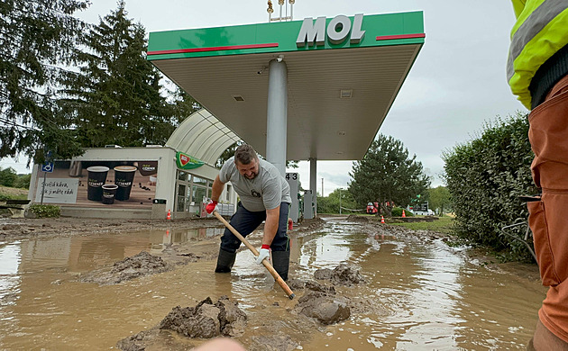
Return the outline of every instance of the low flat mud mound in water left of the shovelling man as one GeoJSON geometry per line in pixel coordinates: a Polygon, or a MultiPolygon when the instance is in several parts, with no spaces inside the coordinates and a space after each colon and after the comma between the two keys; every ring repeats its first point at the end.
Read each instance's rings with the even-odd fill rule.
{"type": "Polygon", "coordinates": [[[154,275],[169,271],[171,266],[165,263],[161,257],[152,256],[146,251],[133,257],[126,257],[122,261],[115,262],[110,269],[98,269],[81,275],[80,282],[96,283],[100,285],[119,284],[143,275],[154,275]]]}

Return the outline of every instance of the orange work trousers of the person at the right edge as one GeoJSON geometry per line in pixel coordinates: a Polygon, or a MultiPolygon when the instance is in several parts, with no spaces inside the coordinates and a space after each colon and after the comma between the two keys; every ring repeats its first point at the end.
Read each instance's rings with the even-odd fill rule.
{"type": "MultiPolygon", "coordinates": [[[[527,202],[536,259],[543,285],[549,286],[539,320],[568,343],[568,76],[529,115],[531,165],[540,202],[527,202]]],[[[568,344],[567,344],[568,345],[568,344]]]]}

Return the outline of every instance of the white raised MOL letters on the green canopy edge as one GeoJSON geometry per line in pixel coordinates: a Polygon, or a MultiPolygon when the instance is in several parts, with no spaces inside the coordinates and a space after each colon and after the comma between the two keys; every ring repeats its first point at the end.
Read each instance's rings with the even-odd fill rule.
{"type": "Polygon", "coordinates": [[[365,36],[365,31],[361,30],[362,25],[362,14],[355,14],[353,17],[353,28],[349,17],[340,14],[335,16],[333,20],[327,24],[327,29],[325,29],[325,17],[317,17],[316,23],[311,17],[304,19],[302,23],[302,28],[298,33],[298,39],[296,40],[296,46],[302,48],[306,46],[316,46],[325,44],[325,34],[327,34],[327,40],[332,44],[341,44],[347,39],[351,33],[350,42],[352,44],[358,44],[361,42],[362,38],[365,36]]]}

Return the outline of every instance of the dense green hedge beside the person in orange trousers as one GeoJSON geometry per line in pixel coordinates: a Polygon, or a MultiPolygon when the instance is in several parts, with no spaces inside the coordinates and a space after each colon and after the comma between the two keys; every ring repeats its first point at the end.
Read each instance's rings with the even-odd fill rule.
{"type": "Polygon", "coordinates": [[[527,248],[501,235],[500,228],[527,219],[527,205],[518,196],[538,193],[530,173],[533,157],[527,115],[520,112],[486,123],[477,139],[444,152],[459,237],[492,247],[507,259],[530,259],[527,248]]]}

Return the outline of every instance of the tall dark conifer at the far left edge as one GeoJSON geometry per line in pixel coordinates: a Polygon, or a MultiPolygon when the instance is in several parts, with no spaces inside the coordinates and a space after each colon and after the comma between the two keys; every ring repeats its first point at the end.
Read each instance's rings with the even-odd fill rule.
{"type": "Polygon", "coordinates": [[[0,157],[43,161],[81,153],[73,130],[56,116],[56,89],[73,72],[73,49],[85,23],[73,17],[88,0],[0,2],[0,157]],[[36,152],[40,150],[40,152],[36,152]]]}

